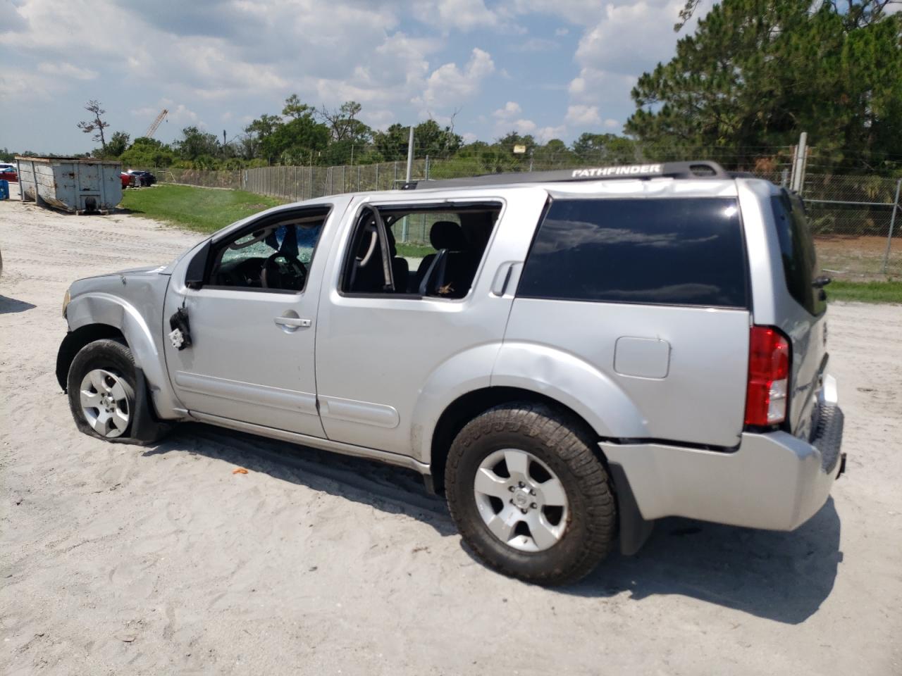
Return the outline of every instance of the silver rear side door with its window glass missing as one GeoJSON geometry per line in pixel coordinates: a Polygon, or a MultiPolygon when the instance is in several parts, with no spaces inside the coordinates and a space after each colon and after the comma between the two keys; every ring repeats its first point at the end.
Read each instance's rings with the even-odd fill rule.
{"type": "MultiPolygon", "coordinates": [[[[414,425],[424,398],[453,398],[451,388],[464,394],[465,388],[489,385],[511,307],[511,297],[492,293],[492,283],[510,267],[510,251],[526,241],[522,226],[535,223],[545,193],[524,189],[509,203],[500,196],[424,198],[415,192],[383,199],[358,206],[347,219],[353,231],[333,249],[319,304],[317,391],[329,439],[410,455],[419,452],[424,434],[414,425]],[[382,281],[355,288],[351,264],[358,233],[376,208],[386,223],[402,216],[391,225],[399,242],[401,233],[412,232],[404,223],[432,224],[430,239],[438,249],[447,247],[446,271],[462,269],[456,265],[462,255],[475,268],[467,267],[466,279],[427,284],[425,293],[419,292],[418,275],[410,275],[405,290],[397,272],[391,291],[382,281]],[[442,229],[457,230],[458,236],[437,237],[442,229]]],[[[382,244],[375,249],[378,261],[382,244]]],[[[408,263],[411,273],[432,268],[429,257],[408,263]]],[[[382,275],[382,264],[376,268],[382,275]]]]}

